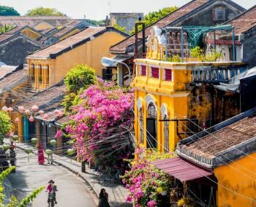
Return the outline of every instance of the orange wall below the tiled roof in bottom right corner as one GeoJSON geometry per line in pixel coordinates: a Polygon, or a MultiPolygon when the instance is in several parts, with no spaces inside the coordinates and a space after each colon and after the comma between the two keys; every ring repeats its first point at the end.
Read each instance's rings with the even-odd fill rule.
{"type": "Polygon", "coordinates": [[[228,165],[222,165],[214,169],[214,175],[217,177],[219,184],[217,190],[217,206],[256,206],[256,202],[243,197],[245,196],[256,200],[255,160],[256,152],[252,153],[250,156],[236,160],[235,163],[229,163],[228,165]],[[233,192],[230,192],[230,190],[233,192]]]}

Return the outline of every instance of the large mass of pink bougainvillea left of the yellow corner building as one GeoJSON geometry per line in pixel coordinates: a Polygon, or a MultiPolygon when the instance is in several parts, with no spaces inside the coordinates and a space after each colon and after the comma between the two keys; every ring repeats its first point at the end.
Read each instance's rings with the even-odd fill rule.
{"type": "Polygon", "coordinates": [[[79,99],[78,105],[72,106],[72,122],[65,128],[65,133],[76,140],[78,156],[120,167],[119,161],[132,155],[127,137],[132,126],[133,93],[99,80],[79,99]]]}

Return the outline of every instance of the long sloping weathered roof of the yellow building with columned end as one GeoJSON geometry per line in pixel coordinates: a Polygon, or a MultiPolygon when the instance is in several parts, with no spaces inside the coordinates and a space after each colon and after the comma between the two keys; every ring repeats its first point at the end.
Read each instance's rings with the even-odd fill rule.
{"type": "Polygon", "coordinates": [[[56,42],[55,44],[52,44],[49,47],[46,47],[45,49],[39,50],[38,52],[29,55],[28,58],[50,58],[50,55],[57,55],[59,52],[68,49],[72,50],[75,44],[80,44],[86,39],[90,39],[91,36],[95,36],[105,30],[105,27],[86,28],[86,30],[80,31],[78,34],[69,36],[67,39],[64,39],[60,42],[56,42]]]}

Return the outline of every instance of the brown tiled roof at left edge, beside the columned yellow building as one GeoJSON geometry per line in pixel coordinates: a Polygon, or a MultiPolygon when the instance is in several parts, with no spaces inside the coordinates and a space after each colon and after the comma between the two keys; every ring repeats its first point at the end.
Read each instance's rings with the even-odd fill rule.
{"type": "Polygon", "coordinates": [[[1,77],[0,93],[11,90],[12,87],[16,87],[20,83],[26,82],[27,79],[28,79],[27,69],[19,69],[18,67],[15,69],[15,71],[12,70],[11,73],[8,73],[4,77],[1,77]]]}

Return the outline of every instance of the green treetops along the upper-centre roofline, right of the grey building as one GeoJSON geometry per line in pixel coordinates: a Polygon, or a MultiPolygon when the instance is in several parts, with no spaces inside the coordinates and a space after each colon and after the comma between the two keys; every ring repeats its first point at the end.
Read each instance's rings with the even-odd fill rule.
{"type": "MultiPolygon", "coordinates": [[[[171,12],[174,12],[176,9],[178,9],[178,7],[165,7],[163,9],[159,9],[159,11],[157,12],[149,12],[147,15],[145,15],[143,22],[146,24],[146,26],[149,26],[162,19],[162,17],[165,17],[171,12]]],[[[139,26],[138,29],[140,31],[142,29],[142,26],[139,26]]],[[[130,34],[135,34],[135,28],[133,28],[130,34]]]]}

